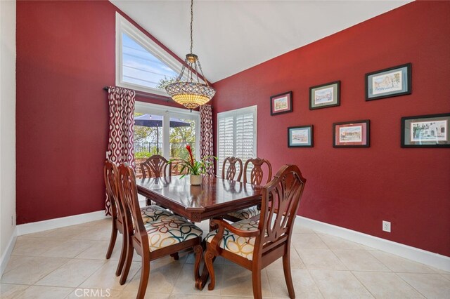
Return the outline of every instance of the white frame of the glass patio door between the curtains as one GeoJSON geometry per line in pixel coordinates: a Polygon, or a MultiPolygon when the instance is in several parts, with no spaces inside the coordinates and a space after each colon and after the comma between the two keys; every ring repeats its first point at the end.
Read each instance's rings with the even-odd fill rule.
{"type": "Polygon", "coordinates": [[[162,157],[170,156],[170,117],[195,119],[195,159],[200,157],[200,112],[136,101],[134,112],[162,116],[162,157]],[[168,145],[168,146],[167,146],[168,145]]]}

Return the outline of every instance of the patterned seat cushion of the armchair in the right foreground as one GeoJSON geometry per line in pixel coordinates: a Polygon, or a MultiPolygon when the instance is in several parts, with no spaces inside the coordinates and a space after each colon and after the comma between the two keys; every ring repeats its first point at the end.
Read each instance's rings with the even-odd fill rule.
{"type": "MultiPolygon", "coordinates": [[[[234,222],[232,225],[239,230],[258,229],[258,221],[251,219],[240,220],[238,222],[234,222]]],[[[214,230],[207,234],[206,241],[211,243],[216,234],[217,230],[214,230]]],[[[219,242],[219,246],[227,251],[231,251],[232,253],[241,255],[248,260],[252,260],[253,249],[255,248],[255,239],[256,237],[240,237],[237,234],[233,234],[229,230],[225,229],[224,237],[222,237],[221,241],[219,242]]]]}

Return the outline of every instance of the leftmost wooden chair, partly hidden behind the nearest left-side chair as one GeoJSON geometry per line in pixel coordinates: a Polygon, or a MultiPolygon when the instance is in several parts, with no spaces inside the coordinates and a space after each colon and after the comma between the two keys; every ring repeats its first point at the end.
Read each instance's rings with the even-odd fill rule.
{"type": "MultiPolygon", "coordinates": [[[[106,259],[108,260],[113,253],[113,249],[115,246],[115,241],[117,239],[117,232],[122,234],[122,249],[120,251],[119,264],[117,265],[117,270],[115,272],[116,276],[119,276],[122,272],[125,255],[127,253],[127,241],[125,239],[124,234],[124,223],[125,223],[125,214],[124,214],[124,206],[122,201],[120,200],[119,187],[117,185],[117,166],[114,162],[106,160],[105,166],[103,168],[103,176],[105,179],[105,187],[106,194],[108,194],[108,198],[111,203],[111,214],[112,214],[112,230],[110,237],[110,244],[108,246],[108,250],[106,251],[106,259]]],[[[160,218],[165,218],[173,213],[167,211],[165,208],[161,208],[160,206],[146,206],[141,208],[141,218],[144,223],[153,222],[160,218]]]]}

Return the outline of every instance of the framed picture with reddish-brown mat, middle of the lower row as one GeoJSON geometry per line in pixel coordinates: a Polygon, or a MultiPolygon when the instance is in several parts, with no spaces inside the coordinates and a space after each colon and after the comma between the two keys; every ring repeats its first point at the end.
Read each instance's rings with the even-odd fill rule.
{"type": "Polygon", "coordinates": [[[370,121],[346,121],[333,124],[333,147],[369,147],[370,121]]]}

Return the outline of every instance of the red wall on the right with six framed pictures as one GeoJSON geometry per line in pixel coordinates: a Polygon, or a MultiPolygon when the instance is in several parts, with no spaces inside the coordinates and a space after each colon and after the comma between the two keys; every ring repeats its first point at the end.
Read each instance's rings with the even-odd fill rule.
{"type": "Polygon", "coordinates": [[[449,1],[415,1],[240,72],[214,84],[214,114],[258,106],[258,157],[308,180],[300,215],[450,256],[450,150],[400,147],[401,117],[450,112],[449,15],[449,1]],[[411,95],[365,101],[364,74],[407,62],[411,95]],[[309,87],[337,80],[341,105],[310,111],[309,87]],[[285,91],[293,112],[271,117],[285,91]],[[360,119],[371,147],[333,148],[333,122],[360,119]],[[309,124],[314,147],[288,148],[288,126],[309,124]]]}

